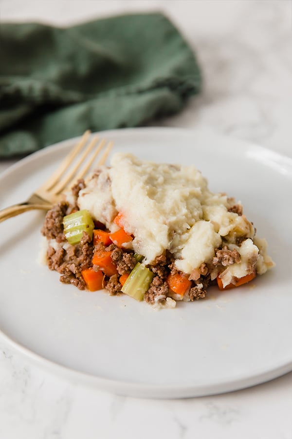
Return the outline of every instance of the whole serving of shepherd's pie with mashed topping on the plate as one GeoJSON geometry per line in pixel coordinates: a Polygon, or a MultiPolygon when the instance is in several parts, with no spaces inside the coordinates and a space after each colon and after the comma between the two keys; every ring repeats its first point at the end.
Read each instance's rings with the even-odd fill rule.
{"type": "Polygon", "coordinates": [[[194,167],[116,156],[46,215],[47,263],[61,282],[174,307],[274,265],[241,204],[210,192],[194,167]]]}

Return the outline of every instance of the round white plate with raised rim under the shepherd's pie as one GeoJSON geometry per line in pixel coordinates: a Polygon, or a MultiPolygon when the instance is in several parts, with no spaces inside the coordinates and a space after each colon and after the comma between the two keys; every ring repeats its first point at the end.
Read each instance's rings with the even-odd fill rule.
{"type": "MultiPolygon", "coordinates": [[[[251,285],[154,311],[78,291],[37,262],[43,214],[0,224],[1,335],[51,371],[112,392],[179,398],[227,392],[292,370],[292,160],[207,131],[105,132],[115,151],[194,163],[216,192],[241,200],[276,267],[251,285]]],[[[1,207],[23,200],[75,140],[19,161],[0,178],[1,207]]]]}

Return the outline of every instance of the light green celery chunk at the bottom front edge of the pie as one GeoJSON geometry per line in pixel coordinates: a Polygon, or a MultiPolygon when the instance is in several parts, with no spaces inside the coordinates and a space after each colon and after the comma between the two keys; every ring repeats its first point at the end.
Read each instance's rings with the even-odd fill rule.
{"type": "Polygon", "coordinates": [[[122,286],[122,292],[136,300],[143,300],[153,278],[154,273],[146,268],[144,264],[137,262],[122,286]]]}

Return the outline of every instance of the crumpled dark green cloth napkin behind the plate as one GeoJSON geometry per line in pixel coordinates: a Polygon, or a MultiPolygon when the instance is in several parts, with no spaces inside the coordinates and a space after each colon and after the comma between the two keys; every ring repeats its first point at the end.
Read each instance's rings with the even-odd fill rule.
{"type": "Polygon", "coordinates": [[[68,28],[0,25],[0,156],[28,154],[85,130],[133,127],[199,93],[190,47],[160,13],[68,28]]]}

